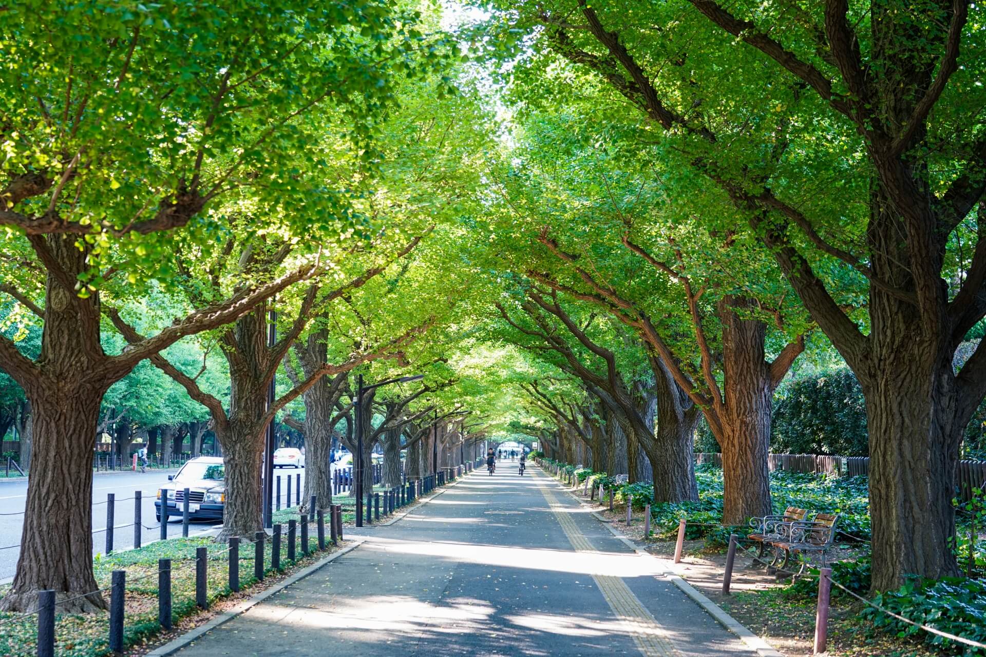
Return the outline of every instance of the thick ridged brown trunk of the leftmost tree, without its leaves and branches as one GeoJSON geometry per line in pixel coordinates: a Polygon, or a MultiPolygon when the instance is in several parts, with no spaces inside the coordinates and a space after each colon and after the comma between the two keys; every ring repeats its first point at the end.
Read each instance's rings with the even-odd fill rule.
{"type": "MultiPolygon", "coordinates": [[[[75,237],[39,239],[72,280],[85,271],[86,253],[75,237]]],[[[103,357],[97,296],[74,297],[49,275],[37,370],[19,381],[31,402],[34,448],[21,554],[2,611],[36,609],[42,589],[53,589],[58,601],[76,598],[61,610],[106,609],[93,574],[92,534],[94,436],[113,382],[94,365],[103,357]]]]}

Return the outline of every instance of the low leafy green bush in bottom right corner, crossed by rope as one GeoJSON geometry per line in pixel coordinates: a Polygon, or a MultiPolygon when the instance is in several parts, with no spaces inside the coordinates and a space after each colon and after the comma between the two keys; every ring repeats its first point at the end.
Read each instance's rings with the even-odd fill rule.
{"type": "MultiPolygon", "coordinates": [[[[986,583],[975,579],[946,577],[938,581],[912,580],[896,591],[881,593],[873,602],[915,623],[927,624],[956,636],[986,642],[986,583]]],[[[969,652],[966,646],[898,621],[867,607],[861,617],[898,636],[921,636],[926,643],[956,654],[969,652]]]]}

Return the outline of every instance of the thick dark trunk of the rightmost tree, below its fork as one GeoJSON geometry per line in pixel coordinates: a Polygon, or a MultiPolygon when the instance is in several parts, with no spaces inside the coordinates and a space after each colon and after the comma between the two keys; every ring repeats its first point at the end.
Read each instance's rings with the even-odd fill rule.
{"type": "Polygon", "coordinates": [[[881,355],[882,371],[860,379],[870,431],[874,590],[895,588],[912,573],[958,574],[947,548],[963,428],[955,422],[951,355],[903,330],[895,342],[895,354],[881,355]]]}

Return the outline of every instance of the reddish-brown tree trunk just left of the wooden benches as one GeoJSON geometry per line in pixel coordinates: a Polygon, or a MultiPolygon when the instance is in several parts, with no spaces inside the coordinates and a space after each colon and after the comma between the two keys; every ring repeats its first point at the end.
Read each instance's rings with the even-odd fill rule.
{"type": "Polygon", "coordinates": [[[771,403],[774,384],[764,360],[766,326],[743,319],[736,309],[751,299],[727,296],[719,304],[723,327],[723,397],[720,447],[723,450],[723,522],[740,525],[771,513],[771,403]]]}

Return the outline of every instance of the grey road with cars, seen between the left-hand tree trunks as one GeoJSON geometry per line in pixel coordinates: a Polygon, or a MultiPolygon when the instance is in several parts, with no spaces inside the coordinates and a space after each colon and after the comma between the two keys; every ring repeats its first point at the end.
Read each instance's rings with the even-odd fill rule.
{"type": "MultiPolygon", "coordinates": [[[[106,529],[106,494],[116,496],[113,513],[113,547],[115,550],[129,548],[133,545],[134,522],[134,492],[142,493],[141,503],[141,544],[156,540],[160,536],[160,525],[154,517],[154,501],[157,492],[168,486],[168,475],[177,470],[151,470],[145,474],[137,473],[97,473],[93,475],[93,529],[106,529]],[[148,529],[150,528],[150,529],[148,529]]],[[[281,480],[281,506],[287,502],[288,476],[291,482],[291,503],[297,503],[295,495],[296,477],[302,477],[302,491],[305,490],[304,469],[281,468],[274,471],[275,477],[281,480]]],[[[17,558],[20,554],[16,546],[21,542],[21,532],[24,527],[24,508],[27,501],[27,480],[12,482],[0,480],[0,582],[14,576],[17,568],[17,558]],[[3,515],[13,514],[13,515],[3,515]]],[[[217,522],[192,522],[188,534],[193,536],[215,529],[217,522]]],[[[172,518],[168,523],[169,536],[181,536],[181,519],[172,518]]],[[[93,534],[93,554],[106,552],[106,533],[96,531],[93,534]]]]}

